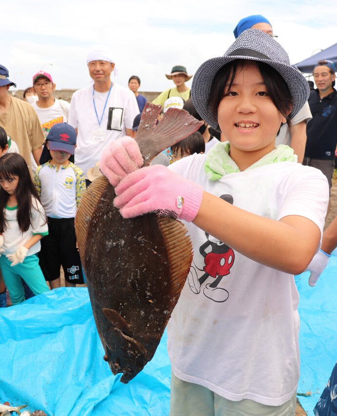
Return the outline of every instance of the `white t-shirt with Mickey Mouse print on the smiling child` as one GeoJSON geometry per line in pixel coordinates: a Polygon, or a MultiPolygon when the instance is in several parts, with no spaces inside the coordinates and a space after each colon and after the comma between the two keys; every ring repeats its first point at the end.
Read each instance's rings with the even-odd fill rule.
{"type": "MultiPolygon", "coordinates": [[[[280,162],[209,181],[205,159],[195,154],[169,169],[254,214],[309,218],[322,234],[329,188],[318,169],[280,162]]],[[[294,276],[250,260],[192,223],[186,226],[194,255],[168,325],[173,373],[230,400],[285,403],[299,377],[294,276]]]]}

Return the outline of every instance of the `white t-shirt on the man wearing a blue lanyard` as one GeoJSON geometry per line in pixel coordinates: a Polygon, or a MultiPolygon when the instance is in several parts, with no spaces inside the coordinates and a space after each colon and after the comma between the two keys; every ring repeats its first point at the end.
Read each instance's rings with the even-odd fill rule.
{"type": "Polygon", "coordinates": [[[139,108],[134,93],[116,83],[113,83],[110,94],[108,91],[94,91],[93,96],[93,84],[74,92],[68,123],[78,129],[75,165],[86,175],[87,170],[101,159],[111,141],[125,136],[126,128],[132,129],[137,114],[139,108]]]}

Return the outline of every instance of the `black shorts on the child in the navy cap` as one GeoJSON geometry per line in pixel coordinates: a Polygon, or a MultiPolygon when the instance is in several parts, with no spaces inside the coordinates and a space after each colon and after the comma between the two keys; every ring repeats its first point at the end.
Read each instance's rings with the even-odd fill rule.
{"type": "Polygon", "coordinates": [[[39,264],[45,280],[60,277],[61,266],[64,278],[69,283],[83,284],[80,254],[76,249],[74,218],[48,217],[49,234],[41,240],[39,264]]]}

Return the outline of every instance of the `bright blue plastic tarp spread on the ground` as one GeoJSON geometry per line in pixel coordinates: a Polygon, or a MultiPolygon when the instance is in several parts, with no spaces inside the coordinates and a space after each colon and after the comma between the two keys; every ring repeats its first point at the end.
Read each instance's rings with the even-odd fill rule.
{"type": "MultiPolygon", "coordinates": [[[[337,257],[315,288],[300,292],[301,376],[308,415],[337,359],[337,257]]],[[[0,403],[54,416],[169,414],[170,366],[164,336],[152,361],[127,385],[103,360],[86,288],[60,288],[0,310],[0,403]]]]}

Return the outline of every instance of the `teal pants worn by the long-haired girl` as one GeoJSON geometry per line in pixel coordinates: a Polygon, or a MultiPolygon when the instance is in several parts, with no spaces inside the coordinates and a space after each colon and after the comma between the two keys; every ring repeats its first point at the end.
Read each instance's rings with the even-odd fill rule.
{"type": "Polygon", "coordinates": [[[9,291],[12,305],[24,301],[24,289],[21,278],[27,283],[31,291],[37,295],[49,291],[39,266],[39,258],[35,254],[26,257],[23,263],[11,266],[5,255],[0,257],[0,267],[6,288],[9,291]]]}

